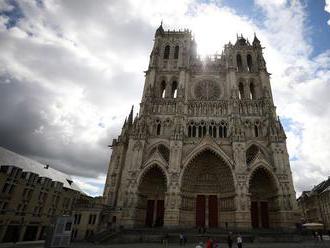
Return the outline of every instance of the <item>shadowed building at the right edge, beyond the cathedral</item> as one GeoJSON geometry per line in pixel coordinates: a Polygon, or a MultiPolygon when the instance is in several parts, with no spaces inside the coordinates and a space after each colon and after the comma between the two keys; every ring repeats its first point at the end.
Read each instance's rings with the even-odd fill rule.
{"type": "Polygon", "coordinates": [[[297,201],[303,222],[322,223],[330,230],[330,177],[311,191],[304,191],[297,201]]]}

